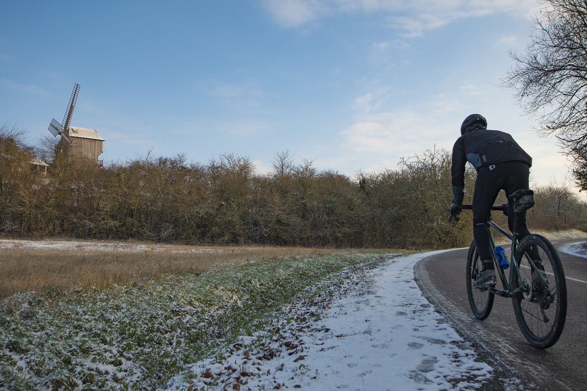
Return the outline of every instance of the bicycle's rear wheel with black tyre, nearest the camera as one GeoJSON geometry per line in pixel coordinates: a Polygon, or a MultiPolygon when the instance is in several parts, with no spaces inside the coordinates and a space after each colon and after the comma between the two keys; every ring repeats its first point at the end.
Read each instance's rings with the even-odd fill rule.
{"type": "MultiPolygon", "coordinates": [[[[549,348],[558,341],[566,320],[566,280],[561,259],[552,243],[537,234],[522,239],[515,257],[523,285],[522,292],[512,297],[516,321],[531,345],[541,349],[549,348]],[[527,261],[530,246],[537,246],[550,292],[542,280],[532,278],[527,261]],[[552,308],[553,304],[555,308],[552,308]]],[[[519,287],[515,267],[511,268],[510,281],[512,291],[519,287]]]]}

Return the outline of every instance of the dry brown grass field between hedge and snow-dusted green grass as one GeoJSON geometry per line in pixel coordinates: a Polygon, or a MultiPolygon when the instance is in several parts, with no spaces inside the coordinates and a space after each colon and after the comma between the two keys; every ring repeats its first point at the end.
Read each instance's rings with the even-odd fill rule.
{"type": "Polygon", "coordinates": [[[173,246],[163,251],[0,249],[0,297],[18,291],[131,284],[141,278],[202,273],[215,264],[281,259],[336,250],[303,247],[173,246]],[[215,249],[211,253],[178,253],[215,249]]]}

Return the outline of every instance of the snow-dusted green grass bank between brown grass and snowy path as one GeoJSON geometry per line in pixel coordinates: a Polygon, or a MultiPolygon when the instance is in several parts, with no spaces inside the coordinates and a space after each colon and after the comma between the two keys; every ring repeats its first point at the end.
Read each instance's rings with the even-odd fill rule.
{"type": "Polygon", "coordinates": [[[0,302],[0,389],[163,386],[187,363],[220,361],[238,336],[265,331],[296,295],[326,295],[336,273],[383,261],[357,252],[309,254],[11,295],[0,302]]]}

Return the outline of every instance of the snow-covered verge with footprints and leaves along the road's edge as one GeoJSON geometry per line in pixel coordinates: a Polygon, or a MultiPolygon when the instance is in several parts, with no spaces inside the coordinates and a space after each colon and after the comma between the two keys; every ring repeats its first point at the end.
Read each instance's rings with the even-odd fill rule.
{"type": "Polygon", "coordinates": [[[332,297],[299,299],[290,316],[187,366],[166,389],[475,389],[492,368],[434,312],[414,281],[431,253],[343,276],[332,297]]]}

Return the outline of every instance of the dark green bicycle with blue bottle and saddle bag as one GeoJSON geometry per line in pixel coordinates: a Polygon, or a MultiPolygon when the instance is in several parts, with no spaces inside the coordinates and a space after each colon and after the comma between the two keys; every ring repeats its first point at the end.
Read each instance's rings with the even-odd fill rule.
{"type": "MultiPolygon", "coordinates": [[[[518,213],[534,206],[534,192],[519,190],[510,195],[509,202],[514,205],[514,232],[506,232],[492,222],[491,215],[487,220],[487,231],[490,237],[495,270],[501,280],[501,288],[475,288],[473,282],[481,273],[481,261],[477,253],[475,240],[471,242],[467,254],[467,295],[471,310],[477,319],[487,318],[491,312],[495,295],[512,298],[514,313],[518,326],[531,345],[537,348],[549,348],[558,341],[566,319],[566,280],[561,260],[552,243],[544,236],[529,234],[518,241],[518,213]],[[504,234],[511,240],[510,278],[505,275],[505,268],[495,257],[495,242],[490,227],[504,234]],[[531,247],[538,250],[544,271],[538,269],[535,260],[529,255],[531,247]],[[527,262],[523,262],[527,260],[527,262]]],[[[473,209],[472,205],[461,205],[460,209],[473,209]]],[[[492,206],[491,210],[501,210],[507,215],[507,204],[492,206]]],[[[452,216],[451,216],[452,218],[452,216]]],[[[450,220],[450,219],[449,219],[450,220]]],[[[535,254],[535,253],[534,253],[535,254]]]]}

